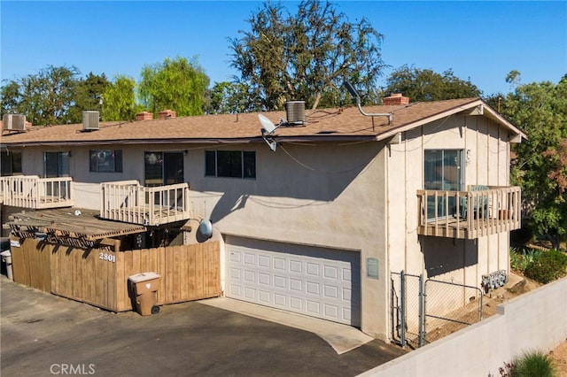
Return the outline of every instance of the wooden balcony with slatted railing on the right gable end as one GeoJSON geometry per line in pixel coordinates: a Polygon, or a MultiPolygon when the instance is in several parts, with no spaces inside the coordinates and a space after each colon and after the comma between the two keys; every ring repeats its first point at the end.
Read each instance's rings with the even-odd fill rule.
{"type": "Polygon", "coordinates": [[[519,229],[519,187],[470,186],[468,191],[418,190],[418,235],[477,239],[519,229]]]}

